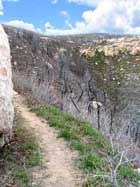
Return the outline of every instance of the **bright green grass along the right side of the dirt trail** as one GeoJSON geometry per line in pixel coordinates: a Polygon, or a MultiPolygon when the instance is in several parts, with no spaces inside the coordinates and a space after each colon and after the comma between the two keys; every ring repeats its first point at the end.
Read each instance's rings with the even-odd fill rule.
{"type": "MultiPolygon", "coordinates": [[[[55,107],[36,106],[32,108],[32,111],[47,120],[50,126],[58,130],[58,137],[67,140],[70,147],[79,152],[77,163],[85,175],[88,176],[83,187],[112,186],[108,179],[91,177],[92,174],[109,172],[109,166],[105,160],[107,155],[111,154],[111,147],[108,140],[99,131],[93,129],[87,121],[75,118],[55,107]]],[[[121,167],[119,176],[121,181],[128,180],[137,183],[140,180],[140,176],[130,166],[121,167]]]]}

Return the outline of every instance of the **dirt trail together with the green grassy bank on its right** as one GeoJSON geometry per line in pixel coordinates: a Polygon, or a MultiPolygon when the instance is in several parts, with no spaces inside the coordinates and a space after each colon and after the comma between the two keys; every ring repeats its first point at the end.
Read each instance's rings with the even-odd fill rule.
{"type": "Polygon", "coordinates": [[[125,153],[123,156],[116,150],[114,155],[110,143],[100,132],[93,129],[91,124],[47,105],[33,107],[32,112],[35,112],[36,116],[27,107],[25,101],[25,98],[17,95],[16,109],[27,121],[25,128],[34,134],[42,153],[41,166],[33,169],[34,185],[38,184],[40,187],[115,186],[113,168],[108,161],[110,158],[114,169],[118,167],[115,171],[116,184],[118,184],[116,186],[128,187],[132,186],[131,184],[138,186],[140,176],[127,162],[125,153]],[[119,157],[122,158],[120,165],[119,157]],[[105,176],[107,176],[106,180],[105,176]]]}

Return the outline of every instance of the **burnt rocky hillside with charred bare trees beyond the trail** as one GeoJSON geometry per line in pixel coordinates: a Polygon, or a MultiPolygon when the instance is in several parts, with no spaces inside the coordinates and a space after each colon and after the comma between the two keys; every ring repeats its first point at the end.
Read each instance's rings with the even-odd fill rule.
{"type": "Polygon", "coordinates": [[[87,43],[4,28],[17,89],[116,132],[118,140],[140,143],[138,37],[92,37],[87,43]]]}

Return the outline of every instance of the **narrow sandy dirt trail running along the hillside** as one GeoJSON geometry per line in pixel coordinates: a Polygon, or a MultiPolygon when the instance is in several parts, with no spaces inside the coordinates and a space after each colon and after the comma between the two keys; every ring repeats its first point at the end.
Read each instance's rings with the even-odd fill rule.
{"type": "Polygon", "coordinates": [[[33,178],[41,182],[41,187],[78,187],[80,172],[74,167],[77,153],[71,151],[57,132],[49,127],[24,104],[25,99],[17,95],[15,106],[21,116],[28,121],[28,130],[35,134],[42,152],[42,166],[33,171],[33,178]]]}

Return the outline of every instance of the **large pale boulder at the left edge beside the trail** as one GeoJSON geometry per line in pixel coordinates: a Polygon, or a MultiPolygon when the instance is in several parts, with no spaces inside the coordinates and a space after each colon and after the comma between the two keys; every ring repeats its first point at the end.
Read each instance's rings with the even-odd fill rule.
{"type": "Polygon", "coordinates": [[[10,61],[8,37],[0,25],[0,147],[12,136],[14,111],[10,61]]]}

